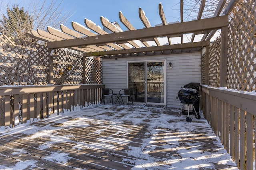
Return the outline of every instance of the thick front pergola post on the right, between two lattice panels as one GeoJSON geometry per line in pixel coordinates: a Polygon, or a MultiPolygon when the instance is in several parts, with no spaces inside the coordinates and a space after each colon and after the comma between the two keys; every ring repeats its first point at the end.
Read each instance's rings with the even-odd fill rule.
{"type": "Polygon", "coordinates": [[[221,27],[220,36],[220,87],[227,86],[228,78],[228,26],[221,27]]]}

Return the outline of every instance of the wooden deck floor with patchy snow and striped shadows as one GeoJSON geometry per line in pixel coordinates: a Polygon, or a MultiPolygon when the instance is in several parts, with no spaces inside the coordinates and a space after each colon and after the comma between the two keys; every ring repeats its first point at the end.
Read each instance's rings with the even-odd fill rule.
{"type": "Polygon", "coordinates": [[[179,111],[97,105],[18,125],[0,133],[0,169],[237,169],[206,120],[179,111]]]}

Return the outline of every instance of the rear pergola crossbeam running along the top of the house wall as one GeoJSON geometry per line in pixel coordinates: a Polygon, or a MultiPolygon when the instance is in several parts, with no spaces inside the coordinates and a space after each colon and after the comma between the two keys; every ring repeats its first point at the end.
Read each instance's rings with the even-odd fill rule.
{"type": "Polygon", "coordinates": [[[152,52],[152,51],[164,51],[164,50],[174,50],[174,49],[202,48],[209,45],[210,45],[210,41],[200,41],[195,43],[162,45],[162,46],[155,46],[155,47],[142,47],[137,49],[91,52],[91,53],[84,53],[84,56],[85,57],[106,56],[106,55],[119,55],[119,54],[128,54],[128,53],[145,53],[145,52],[152,52]]]}

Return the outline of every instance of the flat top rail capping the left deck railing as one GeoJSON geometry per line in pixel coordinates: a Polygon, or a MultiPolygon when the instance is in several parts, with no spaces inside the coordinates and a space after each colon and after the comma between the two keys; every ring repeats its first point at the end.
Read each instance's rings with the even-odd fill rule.
{"type": "Polygon", "coordinates": [[[31,94],[38,92],[55,92],[63,90],[92,89],[104,87],[104,84],[2,86],[0,87],[0,96],[6,96],[10,94],[31,94]]]}

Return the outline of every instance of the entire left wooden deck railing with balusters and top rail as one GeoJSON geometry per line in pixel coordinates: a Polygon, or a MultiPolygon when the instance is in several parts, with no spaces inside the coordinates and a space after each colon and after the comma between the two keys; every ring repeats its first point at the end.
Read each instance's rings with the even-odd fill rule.
{"type": "Polygon", "coordinates": [[[0,127],[99,104],[104,84],[0,87],[0,127]]]}

